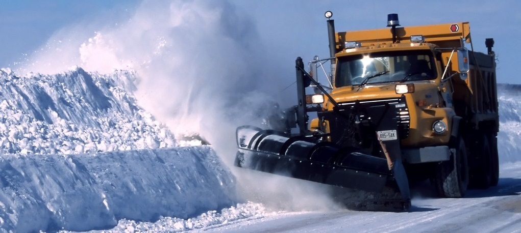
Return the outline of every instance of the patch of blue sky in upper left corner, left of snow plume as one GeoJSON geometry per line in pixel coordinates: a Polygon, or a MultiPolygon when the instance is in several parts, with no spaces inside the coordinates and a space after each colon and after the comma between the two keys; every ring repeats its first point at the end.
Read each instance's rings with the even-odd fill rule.
{"type": "Polygon", "coordinates": [[[0,66],[7,67],[43,46],[56,31],[135,9],[140,1],[0,0],[0,66]]]}

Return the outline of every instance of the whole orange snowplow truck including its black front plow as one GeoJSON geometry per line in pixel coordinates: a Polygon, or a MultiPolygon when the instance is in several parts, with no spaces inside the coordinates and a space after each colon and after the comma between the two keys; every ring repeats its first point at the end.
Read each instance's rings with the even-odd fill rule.
{"type": "MultiPolygon", "coordinates": [[[[390,14],[384,29],[335,32],[331,16],[326,12],[331,58],[315,57],[308,63],[309,72],[304,70],[301,58],[296,61],[299,103],[288,111],[296,119],[287,122],[295,124],[299,133],[286,130],[279,135],[287,135],[287,141],[252,139],[254,143],[250,144],[272,142],[265,148],[275,142],[290,144],[277,147],[273,154],[294,160],[302,152],[290,152],[288,147],[294,141],[306,141],[313,148],[303,157],[312,164],[325,161],[326,167],[336,171],[338,166],[355,160],[356,166],[350,165],[355,167],[353,174],[359,174],[358,170],[376,173],[371,170],[376,161],[372,159],[380,158],[386,161],[392,171],[389,177],[398,183],[397,190],[405,198],[408,189],[402,186],[427,179],[442,197],[463,197],[468,187],[497,185],[499,117],[493,39],[486,39],[488,53],[482,53],[473,49],[468,22],[400,27],[398,15],[390,14]],[[317,70],[325,69],[317,67],[328,60],[331,73],[326,74],[327,82],[322,85],[317,70]],[[314,89],[313,94],[306,94],[306,89],[314,89]],[[317,116],[311,122],[309,112],[317,116]],[[399,177],[402,169],[396,166],[403,167],[406,179],[399,177]]],[[[269,138],[277,133],[264,134],[269,138]]],[[[238,154],[238,163],[242,161],[238,166],[247,167],[244,158],[249,154],[241,152],[241,136],[249,139],[238,130],[242,153],[242,157],[238,154]]],[[[262,155],[253,154],[252,161],[269,164],[262,155]]],[[[381,161],[378,166],[382,166],[381,161]]],[[[284,166],[293,171],[300,163],[284,166]]],[[[271,170],[259,168],[259,163],[250,168],[276,173],[275,167],[281,166],[280,162],[274,164],[277,166],[268,166],[271,170]]],[[[306,169],[299,172],[324,172],[313,170],[313,166],[306,169]]],[[[312,180],[307,177],[313,175],[295,176],[312,180]]],[[[332,179],[329,173],[325,176],[326,181],[332,179]]],[[[334,177],[332,185],[365,178],[351,174],[334,177]]],[[[352,186],[366,188],[357,185],[352,186]]]]}

